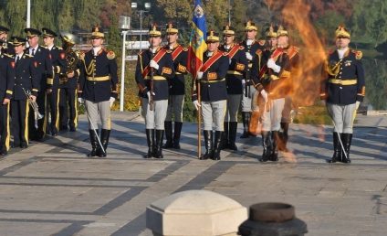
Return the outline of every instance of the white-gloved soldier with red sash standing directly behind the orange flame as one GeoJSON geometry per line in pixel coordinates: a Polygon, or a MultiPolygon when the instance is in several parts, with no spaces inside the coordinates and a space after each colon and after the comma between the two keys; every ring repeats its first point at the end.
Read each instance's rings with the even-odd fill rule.
{"type": "MultiPolygon", "coordinates": [[[[270,27],[267,32],[270,48],[262,52],[262,64],[260,70],[252,70],[252,78],[257,92],[259,92],[261,122],[262,122],[262,145],[264,147],[261,162],[277,161],[277,142],[278,131],[280,129],[282,110],[285,104],[285,97],[288,94],[287,90],[283,90],[283,86],[290,77],[290,66],[288,54],[282,48],[276,48],[277,40],[273,39],[283,31],[274,32],[270,27]],[[263,101],[262,101],[263,100],[263,101]]],[[[254,62],[256,63],[256,61],[254,62]]]]}

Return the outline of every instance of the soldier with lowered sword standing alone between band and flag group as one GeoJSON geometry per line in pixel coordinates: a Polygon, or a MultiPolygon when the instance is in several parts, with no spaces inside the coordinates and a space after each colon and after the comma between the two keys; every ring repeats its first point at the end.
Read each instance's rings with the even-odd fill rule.
{"type": "Polygon", "coordinates": [[[102,47],[105,35],[100,27],[91,31],[92,47],[86,54],[80,56],[78,102],[85,102],[89,114],[89,136],[91,151],[89,157],[107,156],[106,149],[110,138],[110,107],[117,99],[117,62],[113,51],[102,47]],[[99,145],[98,120],[102,123],[99,145]]]}

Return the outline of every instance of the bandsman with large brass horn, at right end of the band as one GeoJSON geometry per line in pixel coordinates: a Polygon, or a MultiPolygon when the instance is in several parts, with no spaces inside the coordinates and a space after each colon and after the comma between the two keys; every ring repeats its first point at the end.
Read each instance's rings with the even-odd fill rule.
{"type": "Polygon", "coordinates": [[[59,126],[60,130],[75,132],[78,127],[77,86],[80,63],[79,51],[74,51],[74,36],[62,35],[62,46],[66,55],[67,70],[59,75],[59,126]]]}

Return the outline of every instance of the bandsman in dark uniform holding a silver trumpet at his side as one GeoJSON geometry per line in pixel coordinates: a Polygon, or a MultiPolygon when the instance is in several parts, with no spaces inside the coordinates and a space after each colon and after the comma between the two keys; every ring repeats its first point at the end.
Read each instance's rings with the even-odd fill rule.
{"type": "MultiPolygon", "coordinates": [[[[29,103],[37,102],[39,88],[37,77],[41,75],[38,73],[36,61],[31,55],[26,54],[26,39],[13,37],[9,43],[15,49],[16,67],[15,86],[11,100],[13,147],[26,148],[28,146],[29,103]],[[27,94],[29,93],[28,99],[31,101],[27,102],[27,94]]],[[[34,111],[32,114],[35,116],[34,111]]]]}

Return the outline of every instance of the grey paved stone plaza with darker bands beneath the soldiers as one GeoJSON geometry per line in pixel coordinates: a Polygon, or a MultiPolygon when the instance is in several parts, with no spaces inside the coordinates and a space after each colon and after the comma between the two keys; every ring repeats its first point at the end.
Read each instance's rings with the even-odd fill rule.
{"type": "MultiPolygon", "coordinates": [[[[88,131],[16,149],[0,160],[0,235],[152,235],[145,208],[187,189],[212,190],[245,206],[296,207],[313,236],[387,234],[387,117],[360,116],[352,164],[329,165],[331,127],[292,125],[292,153],[261,164],[260,138],[237,140],[221,161],[196,159],[196,126],[185,123],[181,151],[145,160],[144,126],[115,113],[109,157],[88,159],[88,131]]],[[[241,131],[241,128],[239,129],[241,131]]],[[[200,227],[200,226],[198,226],[200,227]]]]}

